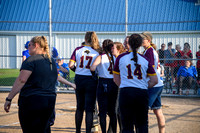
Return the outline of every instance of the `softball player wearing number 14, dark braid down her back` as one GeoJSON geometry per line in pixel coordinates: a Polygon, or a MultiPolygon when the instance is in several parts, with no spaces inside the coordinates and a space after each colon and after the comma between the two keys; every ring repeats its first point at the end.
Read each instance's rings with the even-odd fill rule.
{"type": "Polygon", "coordinates": [[[158,79],[149,61],[137,53],[142,44],[139,34],[129,38],[129,52],[119,55],[114,66],[114,81],[120,88],[119,108],[122,121],[122,132],[148,132],[148,93],[158,79]],[[149,76],[150,80],[148,80],[149,76]]]}

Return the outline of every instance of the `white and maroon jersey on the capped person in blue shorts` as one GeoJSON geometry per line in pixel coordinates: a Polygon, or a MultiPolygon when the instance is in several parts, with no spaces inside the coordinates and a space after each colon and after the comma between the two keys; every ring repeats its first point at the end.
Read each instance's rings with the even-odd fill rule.
{"type": "Polygon", "coordinates": [[[157,74],[158,77],[158,83],[154,87],[160,87],[163,86],[163,81],[160,79],[160,61],[158,57],[158,53],[155,51],[155,49],[152,46],[149,46],[145,51],[144,51],[144,56],[149,59],[151,64],[153,64],[153,68],[157,74]]]}

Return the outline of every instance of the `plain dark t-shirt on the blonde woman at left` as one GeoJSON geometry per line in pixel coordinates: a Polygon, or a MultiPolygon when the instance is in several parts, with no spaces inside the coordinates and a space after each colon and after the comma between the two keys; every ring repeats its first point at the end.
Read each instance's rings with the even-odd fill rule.
{"type": "Polygon", "coordinates": [[[56,95],[55,84],[58,77],[55,61],[51,63],[44,55],[34,55],[27,58],[20,70],[32,71],[20,92],[20,96],[56,95]]]}

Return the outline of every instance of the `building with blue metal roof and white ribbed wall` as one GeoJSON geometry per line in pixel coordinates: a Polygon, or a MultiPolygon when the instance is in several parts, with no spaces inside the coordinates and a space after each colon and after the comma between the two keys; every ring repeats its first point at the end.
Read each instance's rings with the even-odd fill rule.
{"type": "MultiPolygon", "coordinates": [[[[96,31],[123,42],[125,0],[52,0],[52,44],[64,58],[96,31]]],[[[189,42],[195,54],[200,45],[199,0],[128,0],[128,34],[150,31],[153,43],[189,42]]],[[[0,55],[20,56],[33,36],[49,35],[49,0],[0,1],[0,55]]],[[[48,38],[49,39],[49,38],[48,38]]],[[[19,68],[21,58],[0,57],[0,68],[19,68]]]]}

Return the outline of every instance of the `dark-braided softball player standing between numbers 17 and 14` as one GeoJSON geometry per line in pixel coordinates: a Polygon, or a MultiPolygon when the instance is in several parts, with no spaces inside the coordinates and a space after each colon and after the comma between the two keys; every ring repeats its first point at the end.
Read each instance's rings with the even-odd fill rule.
{"type": "Polygon", "coordinates": [[[116,100],[118,87],[113,81],[113,67],[115,57],[112,55],[113,41],[106,39],[103,41],[103,54],[99,55],[90,70],[97,68],[99,81],[97,87],[97,101],[99,106],[100,126],[102,133],[106,133],[106,114],[110,117],[110,124],[114,133],[117,128],[116,100]]]}

